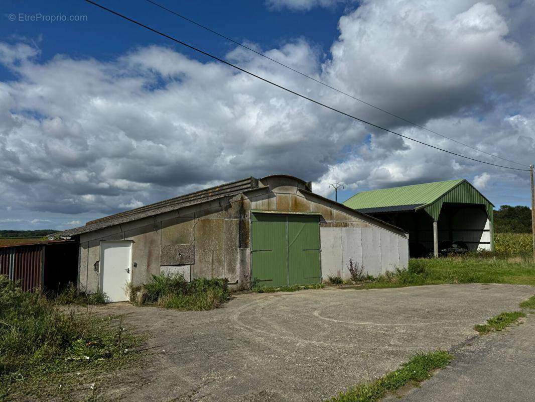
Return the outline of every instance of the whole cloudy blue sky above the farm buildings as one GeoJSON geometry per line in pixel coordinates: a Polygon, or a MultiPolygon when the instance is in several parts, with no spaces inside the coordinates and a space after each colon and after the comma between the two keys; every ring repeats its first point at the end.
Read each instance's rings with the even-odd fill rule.
{"type": "MultiPolygon", "coordinates": [[[[530,2],[159,2],[458,141],[533,159],[530,2]]],[[[146,1],[100,3],[404,135],[514,166],[326,90],[146,1]]],[[[343,182],[339,200],[464,177],[496,205],[529,205],[526,172],[374,131],[86,2],[4,1],[0,18],[0,229],[78,226],[273,173],[312,180],[332,198],[328,184],[343,182]],[[37,14],[87,18],[31,21],[37,14]]]]}

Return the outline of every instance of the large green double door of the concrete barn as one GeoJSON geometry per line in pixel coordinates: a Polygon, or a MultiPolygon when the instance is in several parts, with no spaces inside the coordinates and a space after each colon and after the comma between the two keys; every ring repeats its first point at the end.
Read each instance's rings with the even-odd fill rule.
{"type": "Polygon", "coordinates": [[[253,286],[318,284],[318,215],[251,213],[253,286]]]}

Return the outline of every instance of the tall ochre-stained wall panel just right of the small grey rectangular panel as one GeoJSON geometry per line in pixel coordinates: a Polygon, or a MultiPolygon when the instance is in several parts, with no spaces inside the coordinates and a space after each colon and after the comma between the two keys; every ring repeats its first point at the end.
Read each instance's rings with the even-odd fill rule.
{"type": "Polygon", "coordinates": [[[195,225],[193,278],[224,278],[225,220],[199,219],[195,225]]]}

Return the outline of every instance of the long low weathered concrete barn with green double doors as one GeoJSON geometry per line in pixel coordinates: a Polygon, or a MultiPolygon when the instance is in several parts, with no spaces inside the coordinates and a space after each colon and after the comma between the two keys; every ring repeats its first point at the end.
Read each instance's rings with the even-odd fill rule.
{"type": "Polygon", "coordinates": [[[180,272],[226,278],[233,289],[349,278],[349,259],[378,275],[408,264],[403,230],[311,191],[311,183],[249,177],[87,222],[78,284],[126,300],[126,282],[180,272]]]}

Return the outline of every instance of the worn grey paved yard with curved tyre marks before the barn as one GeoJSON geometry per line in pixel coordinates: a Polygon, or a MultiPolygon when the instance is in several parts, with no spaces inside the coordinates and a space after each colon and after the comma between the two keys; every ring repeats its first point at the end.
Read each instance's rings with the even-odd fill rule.
{"type": "Polygon", "coordinates": [[[450,349],[473,325],[535,293],[521,285],[439,285],[243,294],[224,308],[178,312],[125,303],[155,353],[121,400],[322,401],[399,367],[412,354],[450,349]]]}

